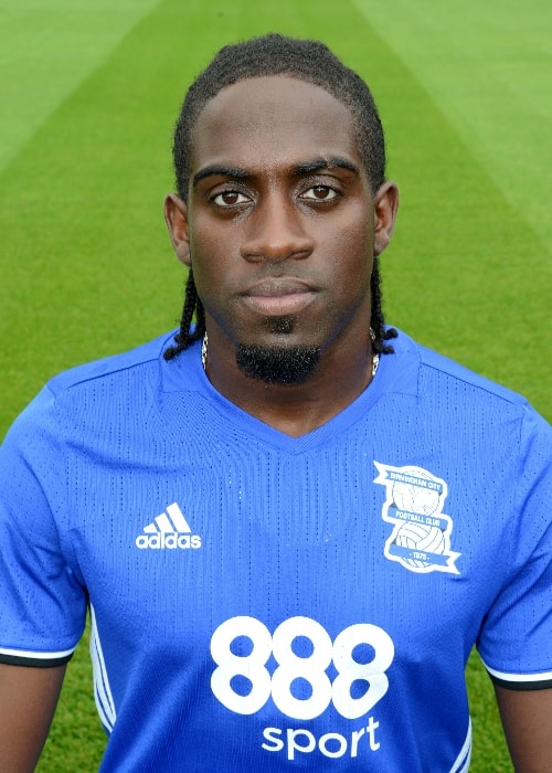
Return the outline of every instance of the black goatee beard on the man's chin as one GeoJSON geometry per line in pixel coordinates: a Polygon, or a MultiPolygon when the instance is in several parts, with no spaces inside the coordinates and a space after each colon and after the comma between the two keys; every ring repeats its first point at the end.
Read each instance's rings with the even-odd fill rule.
{"type": "Polygon", "coordinates": [[[259,347],[238,343],[236,363],[252,379],[266,384],[300,384],[320,362],[320,347],[259,347]]]}

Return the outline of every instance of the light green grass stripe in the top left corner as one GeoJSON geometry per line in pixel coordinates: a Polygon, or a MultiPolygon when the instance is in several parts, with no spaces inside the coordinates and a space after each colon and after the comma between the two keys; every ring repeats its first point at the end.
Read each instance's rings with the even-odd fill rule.
{"type": "Polygon", "coordinates": [[[0,169],[157,0],[0,0],[0,169]]]}

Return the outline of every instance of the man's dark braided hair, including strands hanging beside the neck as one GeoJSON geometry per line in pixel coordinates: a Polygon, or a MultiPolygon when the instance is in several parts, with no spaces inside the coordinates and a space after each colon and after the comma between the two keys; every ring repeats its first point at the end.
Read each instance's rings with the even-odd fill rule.
{"type": "MultiPolygon", "coordinates": [[[[193,128],[206,103],[222,88],[238,81],[270,75],[288,75],[319,86],[351,112],[357,127],[359,151],[375,193],[385,180],[385,141],[378,108],[367,84],[323,43],[272,33],[225,45],[190,86],[177,120],[173,141],[176,182],[180,198],[188,201],[193,128]]],[[[375,353],[390,353],[393,347],[384,341],[395,338],[396,331],[384,328],[378,261],[374,261],[371,292],[371,327],[374,332],[372,348],[375,353]]],[[[201,338],[204,331],[203,305],[190,271],[180,330],[174,337],[176,345],[166,350],[164,358],[172,359],[201,338]],[[192,327],[194,315],[195,326],[192,327]]]]}

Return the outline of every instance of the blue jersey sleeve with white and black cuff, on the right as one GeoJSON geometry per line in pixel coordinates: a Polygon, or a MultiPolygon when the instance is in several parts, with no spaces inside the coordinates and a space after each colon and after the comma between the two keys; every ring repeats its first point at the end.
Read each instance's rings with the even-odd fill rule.
{"type": "Polygon", "coordinates": [[[534,412],[528,411],[523,422],[513,485],[511,571],[478,649],[495,682],[541,689],[552,687],[552,430],[534,412]]]}

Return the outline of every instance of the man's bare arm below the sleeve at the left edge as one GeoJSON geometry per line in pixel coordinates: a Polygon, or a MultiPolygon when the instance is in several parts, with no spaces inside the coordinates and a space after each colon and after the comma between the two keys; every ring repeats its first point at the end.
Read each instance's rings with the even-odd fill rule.
{"type": "Polygon", "coordinates": [[[0,664],[0,770],[32,773],[54,716],[65,666],[0,664]]]}

